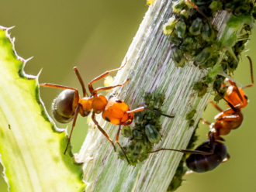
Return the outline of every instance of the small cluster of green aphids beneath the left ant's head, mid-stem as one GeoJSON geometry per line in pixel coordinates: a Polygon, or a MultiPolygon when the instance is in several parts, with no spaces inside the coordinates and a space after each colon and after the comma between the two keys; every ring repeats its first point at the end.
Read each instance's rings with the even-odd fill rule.
{"type": "MultiPolygon", "coordinates": [[[[135,125],[133,128],[130,129],[130,127],[126,126],[122,129],[121,134],[130,139],[129,144],[124,146],[123,149],[131,165],[136,165],[139,161],[143,162],[147,159],[154,143],[160,142],[160,115],[156,111],[161,112],[163,102],[163,94],[157,94],[153,98],[152,94],[146,93],[144,104],[149,108],[153,108],[154,111],[137,112],[134,114],[135,125]]],[[[119,151],[119,158],[125,159],[122,151],[119,151]]]]}

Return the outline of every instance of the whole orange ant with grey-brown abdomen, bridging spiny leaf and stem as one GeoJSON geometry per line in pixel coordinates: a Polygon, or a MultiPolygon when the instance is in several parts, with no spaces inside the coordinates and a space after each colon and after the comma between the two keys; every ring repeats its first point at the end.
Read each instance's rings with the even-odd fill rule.
{"type": "MultiPolygon", "coordinates": [[[[127,63],[127,59],[126,59],[126,63],[127,63]]],[[[126,63],[124,63],[123,66],[119,67],[118,69],[108,70],[105,73],[99,75],[99,77],[95,77],[95,79],[93,79],[88,84],[88,89],[90,91],[91,96],[88,96],[88,93],[86,92],[85,84],[82,81],[81,75],[78,72],[78,67],[74,67],[74,73],[77,75],[78,81],[80,82],[83,90],[83,98],[79,96],[78,90],[73,87],[67,87],[59,84],[48,84],[48,83],[40,84],[40,87],[54,87],[54,88],[64,89],[64,91],[62,91],[61,94],[57,96],[57,98],[54,100],[54,103],[53,103],[53,114],[57,122],[67,123],[73,120],[71,134],[68,137],[68,142],[67,142],[67,146],[64,151],[64,154],[67,152],[67,147],[71,140],[71,135],[72,135],[75,123],[77,121],[78,114],[80,114],[82,117],[86,117],[92,111],[92,121],[95,123],[99,131],[106,136],[106,139],[108,139],[109,142],[111,142],[115,152],[116,152],[116,147],[114,146],[114,143],[109,138],[109,135],[102,129],[102,127],[96,121],[95,114],[102,113],[102,118],[104,118],[107,122],[110,122],[114,125],[119,125],[119,129],[116,134],[116,143],[122,149],[124,156],[126,156],[126,153],[124,153],[123,147],[118,142],[121,125],[130,125],[133,122],[133,113],[138,111],[150,110],[150,111],[154,111],[159,115],[164,115],[148,107],[140,107],[140,108],[130,110],[128,105],[126,105],[125,102],[119,100],[119,98],[117,98],[115,95],[111,95],[108,100],[102,94],[98,94],[98,91],[110,90],[114,87],[122,87],[124,84],[126,84],[129,81],[129,79],[127,79],[123,84],[116,84],[114,86],[99,87],[96,89],[92,87],[92,83],[94,83],[95,81],[99,81],[100,79],[102,79],[103,77],[106,77],[108,74],[112,72],[121,70],[126,65],[126,63]]],[[[164,115],[164,116],[168,118],[174,118],[174,116],[170,116],[170,115],[164,115]]],[[[127,156],[126,156],[126,160],[130,164],[127,156]]]]}

